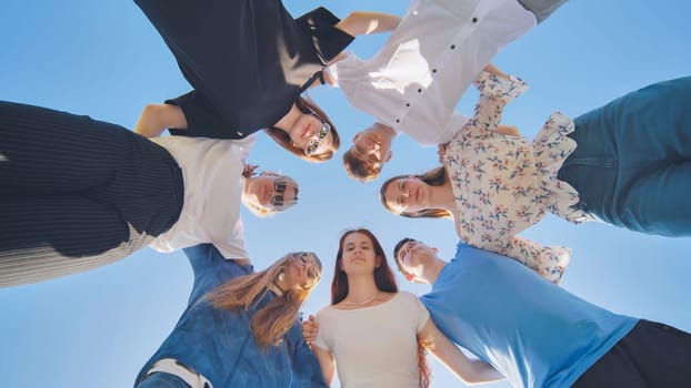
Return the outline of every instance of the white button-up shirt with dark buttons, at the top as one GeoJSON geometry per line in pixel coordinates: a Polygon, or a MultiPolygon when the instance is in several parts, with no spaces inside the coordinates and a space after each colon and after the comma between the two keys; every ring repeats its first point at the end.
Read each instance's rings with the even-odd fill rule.
{"type": "Polygon", "coordinates": [[[412,0],[374,57],[329,68],[348,102],[423,145],[451,141],[463,92],[505,44],[537,24],[517,0],[412,0]]]}

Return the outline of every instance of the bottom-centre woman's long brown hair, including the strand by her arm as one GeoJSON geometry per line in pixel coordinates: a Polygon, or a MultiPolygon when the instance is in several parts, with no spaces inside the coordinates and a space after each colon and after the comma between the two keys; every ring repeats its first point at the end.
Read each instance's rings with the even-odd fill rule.
{"type": "MultiPolygon", "coordinates": [[[[345,231],[339,241],[339,252],[336,254],[336,267],[333,269],[333,279],[331,280],[331,304],[343,300],[348,295],[348,276],[341,269],[341,263],[343,262],[343,244],[345,237],[353,233],[361,233],[372,242],[374,248],[374,255],[380,259],[379,268],[374,268],[374,284],[377,289],[385,293],[398,293],[398,285],[395,277],[389,262],[387,261],[387,254],[379,243],[379,239],[372,232],[365,228],[345,231]]],[[[420,374],[418,385],[419,388],[428,388],[430,385],[430,367],[427,363],[427,346],[425,339],[418,339],[418,372],[420,374]]]]}

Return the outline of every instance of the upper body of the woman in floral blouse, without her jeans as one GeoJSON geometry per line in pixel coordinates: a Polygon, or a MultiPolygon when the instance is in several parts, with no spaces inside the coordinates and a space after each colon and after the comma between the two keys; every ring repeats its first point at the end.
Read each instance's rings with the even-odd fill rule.
{"type": "Polygon", "coordinates": [[[533,151],[528,141],[495,132],[503,106],[527,84],[494,69],[483,71],[475,85],[480,99],[474,114],[447,146],[444,165],[387,180],[380,190],[382,205],[405,217],[452,218],[463,242],[513,257],[559,283],[571,251],[517,234],[550,210],[569,212],[578,202],[573,188],[555,177],[560,157],[573,150],[565,135],[569,127],[554,114],[537,136],[533,151]]]}

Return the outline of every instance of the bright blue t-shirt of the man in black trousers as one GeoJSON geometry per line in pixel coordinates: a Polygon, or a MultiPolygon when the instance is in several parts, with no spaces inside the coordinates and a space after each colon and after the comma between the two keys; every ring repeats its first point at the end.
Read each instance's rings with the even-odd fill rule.
{"type": "Polygon", "coordinates": [[[514,387],[571,386],[638,321],[462,243],[421,300],[452,341],[514,387]]]}

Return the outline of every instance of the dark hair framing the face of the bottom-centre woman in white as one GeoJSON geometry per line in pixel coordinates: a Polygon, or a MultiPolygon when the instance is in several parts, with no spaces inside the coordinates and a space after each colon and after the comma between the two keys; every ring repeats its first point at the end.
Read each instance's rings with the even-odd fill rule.
{"type": "Polygon", "coordinates": [[[345,237],[353,233],[361,233],[372,242],[372,246],[374,248],[374,255],[379,258],[379,267],[374,268],[374,284],[377,284],[377,288],[384,293],[398,293],[398,285],[395,283],[395,277],[393,276],[393,272],[391,267],[389,267],[389,263],[387,261],[387,254],[384,253],[384,248],[381,247],[381,244],[374,237],[374,234],[365,228],[359,229],[350,229],[345,231],[339,241],[339,252],[336,254],[336,265],[333,268],[333,279],[331,280],[331,304],[336,305],[337,303],[343,300],[348,295],[348,276],[341,269],[341,263],[343,262],[343,243],[345,237]]]}

